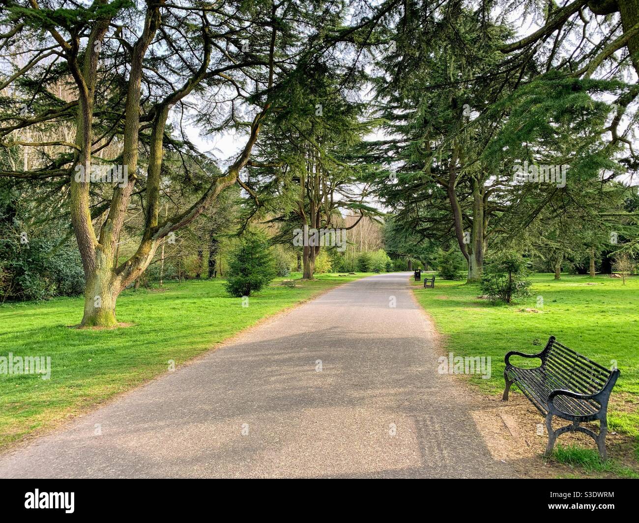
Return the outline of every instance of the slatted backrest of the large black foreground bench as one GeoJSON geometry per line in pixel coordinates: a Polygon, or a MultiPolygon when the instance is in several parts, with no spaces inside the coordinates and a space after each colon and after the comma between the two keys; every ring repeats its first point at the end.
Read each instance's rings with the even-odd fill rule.
{"type": "Polygon", "coordinates": [[[569,390],[580,394],[595,394],[604,389],[613,374],[614,381],[619,375],[618,370],[612,371],[589,360],[579,352],[560,344],[554,336],[548,340],[543,360],[548,374],[552,374],[569,390]]]}

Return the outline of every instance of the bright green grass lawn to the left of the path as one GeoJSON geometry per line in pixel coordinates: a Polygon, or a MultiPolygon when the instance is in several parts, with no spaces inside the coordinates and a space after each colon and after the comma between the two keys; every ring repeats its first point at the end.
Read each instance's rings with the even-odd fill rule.
{"type": "Polygon", "coordinates": [[[117,317],[133,326],[116,330],[68,328],[82,317],[81,298],[0,306],[0,356],[50,356],[52,368],[48,380],[0,374],[0,449],[167,372],[169,360],[180,365],[260,319],[362,276],[318,275],[296,287],[279,278],[250,296],[249,307],[226,294],[223,280],[125,291],[117,317]]]}

